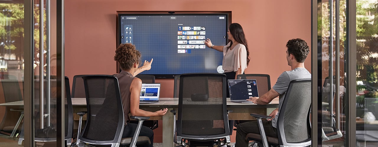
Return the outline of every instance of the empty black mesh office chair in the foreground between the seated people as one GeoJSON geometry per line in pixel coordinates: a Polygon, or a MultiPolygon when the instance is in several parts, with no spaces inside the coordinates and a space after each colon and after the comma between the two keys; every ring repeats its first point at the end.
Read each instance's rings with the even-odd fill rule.
{"type": "Polygon", "coordinates": [[[178,120],[174,142],[180,146],[222,146],[230,143],[225,74],[180,75],[178,120]]]}

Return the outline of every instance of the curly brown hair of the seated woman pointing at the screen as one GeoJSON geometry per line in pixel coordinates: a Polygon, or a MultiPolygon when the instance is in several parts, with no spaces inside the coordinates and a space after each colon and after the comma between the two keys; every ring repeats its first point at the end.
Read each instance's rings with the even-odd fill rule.
{"type": "Polygon", "coordinates": [[[141,53],[131,43],[120,44],[114,55],[114,60],[121,65],[121,70],[130,70],[134,63],[140,63],[141,53]]]}

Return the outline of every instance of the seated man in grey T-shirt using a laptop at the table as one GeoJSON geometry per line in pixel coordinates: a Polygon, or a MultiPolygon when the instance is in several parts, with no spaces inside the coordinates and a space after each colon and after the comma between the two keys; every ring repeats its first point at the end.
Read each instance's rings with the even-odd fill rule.
{"type": "MultiPolygon", "coordinates": [[[[248,101],[252,101],[255,104],[265,105],[270,103],[274,98],[279,96],[279,107],[273,110],[269,116],[272,119],[262,121],[266,136],[277,138],[277,119],[280,111],[280,107],[285,97],[286,90],[289,87],[291,80],[296,79],[308,79],[311,78],[310,72],[305,68],[304,61],[310,52],[307,43],[302,39],[291,39],[286,44],[286,59],[288,65],[291,67],[291,71],[283,72],[277,79],[273,88],[265,93],[261,97],[251,97],[248,101]]],[[[236,142],[235,147],[246,147],[248,141],[245,137],[248,133],[260,134],[257,121],[245,122],[237,125],[236,142]]]]}

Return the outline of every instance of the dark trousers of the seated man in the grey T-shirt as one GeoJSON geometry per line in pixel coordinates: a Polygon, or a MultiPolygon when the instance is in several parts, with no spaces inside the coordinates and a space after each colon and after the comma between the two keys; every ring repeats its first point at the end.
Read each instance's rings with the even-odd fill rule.
{"type": "MultiPolygon", "coordinates": [[[[266,136],[277,138],[277,128],[272,126],[272,121],[262,121],[262,125],[264,126],[266,136]]],[[[244,122],[237,125],[235,147],[248,146],[248,141],[245,140],[248,133],[260,134],[257,121],[244,122]]]]}

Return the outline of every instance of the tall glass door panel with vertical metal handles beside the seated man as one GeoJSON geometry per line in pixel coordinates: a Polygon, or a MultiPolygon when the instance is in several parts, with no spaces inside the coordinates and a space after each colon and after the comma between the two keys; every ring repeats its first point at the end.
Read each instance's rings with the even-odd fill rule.
{"type": "MultiPolygon", "coordinates": [[[[318,3],[318,102],[321,101],[322,146],[345,146],[347,142],[345,98],[347,76],[345,60],[348,56],[346,0],[329,0],[318,3]],[[320,11],[319,11],[320,9],[320,11]],[[320,54],[319,54],[320,53],[320,54]],[[321,98],[321,99],[319,99],[321,98]]],[[[318,103],[319,104],[319,103],[318,103]]]]}

